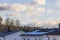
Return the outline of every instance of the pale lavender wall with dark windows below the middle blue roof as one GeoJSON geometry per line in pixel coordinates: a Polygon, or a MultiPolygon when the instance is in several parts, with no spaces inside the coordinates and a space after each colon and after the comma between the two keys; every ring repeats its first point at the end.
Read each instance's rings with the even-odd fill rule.
{"type": "Polygon", "coordinates": [[[48,40],[47,36],[22,36],[22,40],[48,40]]]}

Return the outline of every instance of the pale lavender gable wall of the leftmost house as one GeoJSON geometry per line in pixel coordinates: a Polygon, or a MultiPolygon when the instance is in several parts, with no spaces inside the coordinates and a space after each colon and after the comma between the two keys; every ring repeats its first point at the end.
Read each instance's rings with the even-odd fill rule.
{"type": "Polygon", "coordinates": [[[22,33],[24,33],[24,32],[19,31],[19,32],[10,34],[8,36],[5,36],[5,39],[6,40],[21,40],[21,36],[19,36],[19,35],[22,34],[22,33]]]}

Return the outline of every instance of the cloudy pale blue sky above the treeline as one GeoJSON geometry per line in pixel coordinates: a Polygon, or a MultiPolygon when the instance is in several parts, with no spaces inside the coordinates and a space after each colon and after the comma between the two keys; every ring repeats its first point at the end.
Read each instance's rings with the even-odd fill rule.
{"type": "Polygon", "coordinates": [[[0,0],[0,16],[22,24],[60,22],[60,0],[0,0]]]}

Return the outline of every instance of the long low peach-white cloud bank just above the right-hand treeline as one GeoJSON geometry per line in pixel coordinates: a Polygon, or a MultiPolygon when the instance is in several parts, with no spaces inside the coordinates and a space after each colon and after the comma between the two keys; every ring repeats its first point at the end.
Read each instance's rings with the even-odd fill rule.
{"type": "Polygon", "coordinates": [[[34,18],[32,21],[33,21],[33,23],[36,23],[37,25],[44,25],[44,24],[56,25],[56,24],[60,23],[60,19],[59,18],[57,18],[56,20],[49,20],[49,21],[46,21],[46,22],[41,22],[37,18],[34,18]]]}

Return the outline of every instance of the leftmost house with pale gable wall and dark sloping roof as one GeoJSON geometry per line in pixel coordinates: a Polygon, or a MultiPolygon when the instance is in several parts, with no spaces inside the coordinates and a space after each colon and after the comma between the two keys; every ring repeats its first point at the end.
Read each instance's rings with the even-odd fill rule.
{"type": "Polygon", "coordinates": [[[24,33],[23,31],[0,33],[0,40],[21,40],[19,35],[23,33],[24,33]]]}

